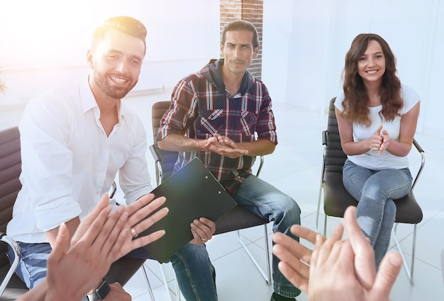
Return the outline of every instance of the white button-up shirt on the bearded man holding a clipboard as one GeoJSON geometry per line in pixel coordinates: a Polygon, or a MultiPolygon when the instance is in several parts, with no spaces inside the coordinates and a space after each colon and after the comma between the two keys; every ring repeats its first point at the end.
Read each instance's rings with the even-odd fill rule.
{"type": "Polygon", "coordinates": [[[48,242],[45,232],[89,214],[116,173],[132,203],[150,193],[146,132],[139,116],[118,108],[107,137],[87,79],[33,98],[19,124],[21,191],[6,232],[18,242],[48,242]]]}

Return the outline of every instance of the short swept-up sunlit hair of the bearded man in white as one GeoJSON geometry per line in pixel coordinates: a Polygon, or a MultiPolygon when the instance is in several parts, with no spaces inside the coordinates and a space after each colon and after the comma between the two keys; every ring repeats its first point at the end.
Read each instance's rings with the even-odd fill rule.
{"type": "Polygon", "coordinates": [[[109,30],[118,30],[121,33],[126,33],[135,38],[140,38],[143,41],[146,52],[146,35],[147,30],[142,22],[135,18],[128,16],[117,16],[107,19],[103,25],[99,26],[94,30],[94,35],[92,39],[92,47],[94,48],[101,39],[104,38],[109,30]]]}

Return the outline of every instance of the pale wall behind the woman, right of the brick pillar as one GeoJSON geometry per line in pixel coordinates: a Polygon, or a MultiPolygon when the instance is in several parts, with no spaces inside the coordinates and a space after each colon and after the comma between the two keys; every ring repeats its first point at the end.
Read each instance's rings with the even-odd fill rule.
{"type": "Polygon", "coordinates": [[[262,79],[274,100],[324,111],[341,89],[345,52],[359,33],[389,42],[404,84],[421,96],[418,132],[444,136],[444,1],[264,1],[262,79]]]}

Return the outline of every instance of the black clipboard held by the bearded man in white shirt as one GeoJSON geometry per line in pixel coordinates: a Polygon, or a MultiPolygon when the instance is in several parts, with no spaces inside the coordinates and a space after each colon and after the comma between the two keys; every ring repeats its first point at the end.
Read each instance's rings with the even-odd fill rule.
{"type": "Polygon", "coordinates": [[[162,208],[167,207],[170,211],[139,235],[165,229],[162,238],[144,246],[160,263],[193,239],[189,226],[193,220],[206,217],[216,222],[237,205],[198,158],[189,161],[152,193],[156,198],[165,196],[167,200],[162,208]]]}

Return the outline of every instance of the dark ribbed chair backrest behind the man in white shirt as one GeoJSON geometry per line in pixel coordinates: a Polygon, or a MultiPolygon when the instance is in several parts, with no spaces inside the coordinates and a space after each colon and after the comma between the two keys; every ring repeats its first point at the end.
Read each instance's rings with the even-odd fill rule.
{"type": "MultiPolygon", "coordinates": [[[[12,208],[21,183],[20,132],[18,127],[0,131],[0,232],[12,218],[12,208]]],[[[0,268],[10,266],[6,258],[6,244],[0,244],[0,268]]]]}

